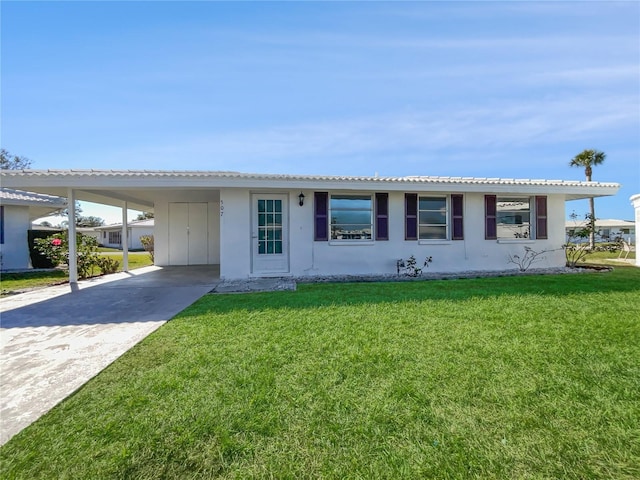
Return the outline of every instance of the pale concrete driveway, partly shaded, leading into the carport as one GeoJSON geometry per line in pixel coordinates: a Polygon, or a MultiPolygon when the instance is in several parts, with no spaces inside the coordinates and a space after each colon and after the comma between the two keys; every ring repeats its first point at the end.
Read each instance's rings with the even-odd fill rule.
{"type": "Polygon", "coordinates": [[[219,282],[214,265],[145,267],[0,300],[0,445],[219,282]]]}

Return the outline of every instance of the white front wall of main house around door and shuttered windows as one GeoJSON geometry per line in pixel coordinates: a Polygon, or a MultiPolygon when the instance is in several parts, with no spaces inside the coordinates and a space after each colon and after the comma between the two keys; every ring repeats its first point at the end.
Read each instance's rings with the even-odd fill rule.
{"type": "MultiPolygon", "coordinates": [[[[222,278],[252,275],[251,194],[256,192],[240,189],[221,191],[222,278]]],[[[341,192],[348,193],[347,190],[341,192]]],[[[298,205],[300,190],[273,190],[269,193],[288,193],[289,275],[292,276],[395,274],[397,260],[406,260],[411,255],[418,262],[431,256],[433,262],[426,270],[428,272],[517,269],[516,265],[508,263],[508,255],[522,256],[525,246],[535,251],[549,250],[532,268],[565,264],[562,250],[565,239],[564,198],[561,195],[547,196],[548,240],[485,240],[484,194],[474,193],[464,195],[464,240],[405,241],[404,192],[389,192],[389,240],[356,243],[314,241],[313,190],[303,190],[305,203],[302,207],[298,205]]]]}

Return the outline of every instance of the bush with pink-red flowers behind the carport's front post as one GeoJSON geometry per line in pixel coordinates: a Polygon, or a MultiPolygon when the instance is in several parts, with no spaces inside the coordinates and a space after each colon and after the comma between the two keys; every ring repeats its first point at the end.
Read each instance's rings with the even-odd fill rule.
{"type": "MultiPolygon", "coordinates": [[[[36,249],[45,257],[57,265],[69,266],[69,233],[55,233],[47,238],[34,240],[36,249]]],[[[78,263],[78,276],[87,278],[93,275],[99,266],[98,241],[88,235],[78,233],[76,235],[76,254],[78,263]]]]}

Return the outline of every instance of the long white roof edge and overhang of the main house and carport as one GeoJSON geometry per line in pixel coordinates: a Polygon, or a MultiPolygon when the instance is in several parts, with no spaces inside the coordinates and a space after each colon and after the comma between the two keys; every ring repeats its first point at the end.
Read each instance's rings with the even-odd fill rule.
{"type": "Polygon", "coordinates": [[[346,177],[322,175],[252,174],[220,171],[148,170],[3,170],[2,184],[49,195],[67,196],[72,188],[79,200],[134,210],[153,209],[159,191],[250,189],[384,190],[450,193],[564,195],[567,200],[615,195],[618,183],[573,180],[530,180],[476,177],[346,177]]]}

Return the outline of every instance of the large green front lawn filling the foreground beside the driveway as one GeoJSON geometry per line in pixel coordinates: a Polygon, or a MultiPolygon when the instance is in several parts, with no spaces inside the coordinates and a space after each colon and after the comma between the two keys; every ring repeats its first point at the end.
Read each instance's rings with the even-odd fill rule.
{"type": "Polygon", "coordinates": [[[640,478],[640,269],[209,295],[2,478],[640,478]]]}

